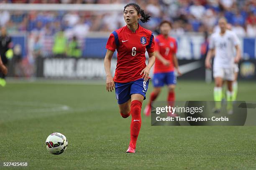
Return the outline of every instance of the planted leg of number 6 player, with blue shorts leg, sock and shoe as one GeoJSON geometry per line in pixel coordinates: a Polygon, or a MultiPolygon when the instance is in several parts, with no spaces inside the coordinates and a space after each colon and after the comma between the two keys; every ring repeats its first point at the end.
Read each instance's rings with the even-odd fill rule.
{"type": "Polygon", "coordinates": [[[143,79],[136,80],[131,85],[131,140],[126,152],[134,153],[136,142],[141,129],[141,107],[143,100],[146,99],[148,82],[143,79]]]}

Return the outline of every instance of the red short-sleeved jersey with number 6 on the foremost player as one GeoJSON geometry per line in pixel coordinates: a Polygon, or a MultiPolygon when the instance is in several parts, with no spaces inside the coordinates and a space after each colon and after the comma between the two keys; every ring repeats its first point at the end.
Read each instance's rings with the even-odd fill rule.
{"type": "Polygon", "coordinates": [[[132,32],[127,25],[113,31],[108,38],[106,48],[117,50],[115,82],[131,82],[142,77],[141,71],[146,67],[145,52],[154,52],[154,35],[141,25],[132,32]]]}

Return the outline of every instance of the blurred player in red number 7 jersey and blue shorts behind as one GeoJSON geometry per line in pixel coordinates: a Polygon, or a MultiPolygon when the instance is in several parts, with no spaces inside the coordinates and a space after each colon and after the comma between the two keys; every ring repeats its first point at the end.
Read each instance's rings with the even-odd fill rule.
{"type": "Polygon", "coordinates": [[[159,25],[160,35],[156,37],[156,64],[154,67],[154,90],[151,92],[148,105],[145,107],[144,114],[149,116],[151,113],[151,102],[156,100],[160,94],[161,88],[166,84],[168,86],[169,94],[167,101],[169,105],[174,104],[175,94],[174,88],[176,84],[176,76],[174,75],[174,67],[178,75],[179,71],[178,60],[176,57],[177,42],[173,37],[169,37],[172,25],[169,21],[162,21],[159,25]]]}

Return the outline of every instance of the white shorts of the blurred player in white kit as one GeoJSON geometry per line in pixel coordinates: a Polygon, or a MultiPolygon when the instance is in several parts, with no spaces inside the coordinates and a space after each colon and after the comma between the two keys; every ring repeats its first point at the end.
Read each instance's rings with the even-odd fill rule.
{"type": "Polygon", "coordinates": [[[213,77],[221,77],[223,80],[229,80],[233,81],[235,80],[235,71],[234,68],[221,68],[221,67],[216,67],[213,68],[213,77]]]}

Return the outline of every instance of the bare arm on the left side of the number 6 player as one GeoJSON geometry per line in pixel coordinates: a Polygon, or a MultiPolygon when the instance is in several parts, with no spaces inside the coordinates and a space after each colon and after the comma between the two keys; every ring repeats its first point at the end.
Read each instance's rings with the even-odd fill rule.
{"type": "Polygon", "coordinates": [[[112,92],[115,89],[115,82],[110,72],[111,58],[113,54],[113,51],[107,50],[107,53],[104,58],[104,67],[106,72],[106,89],[108,90],[108,92],[112,92]]]}

